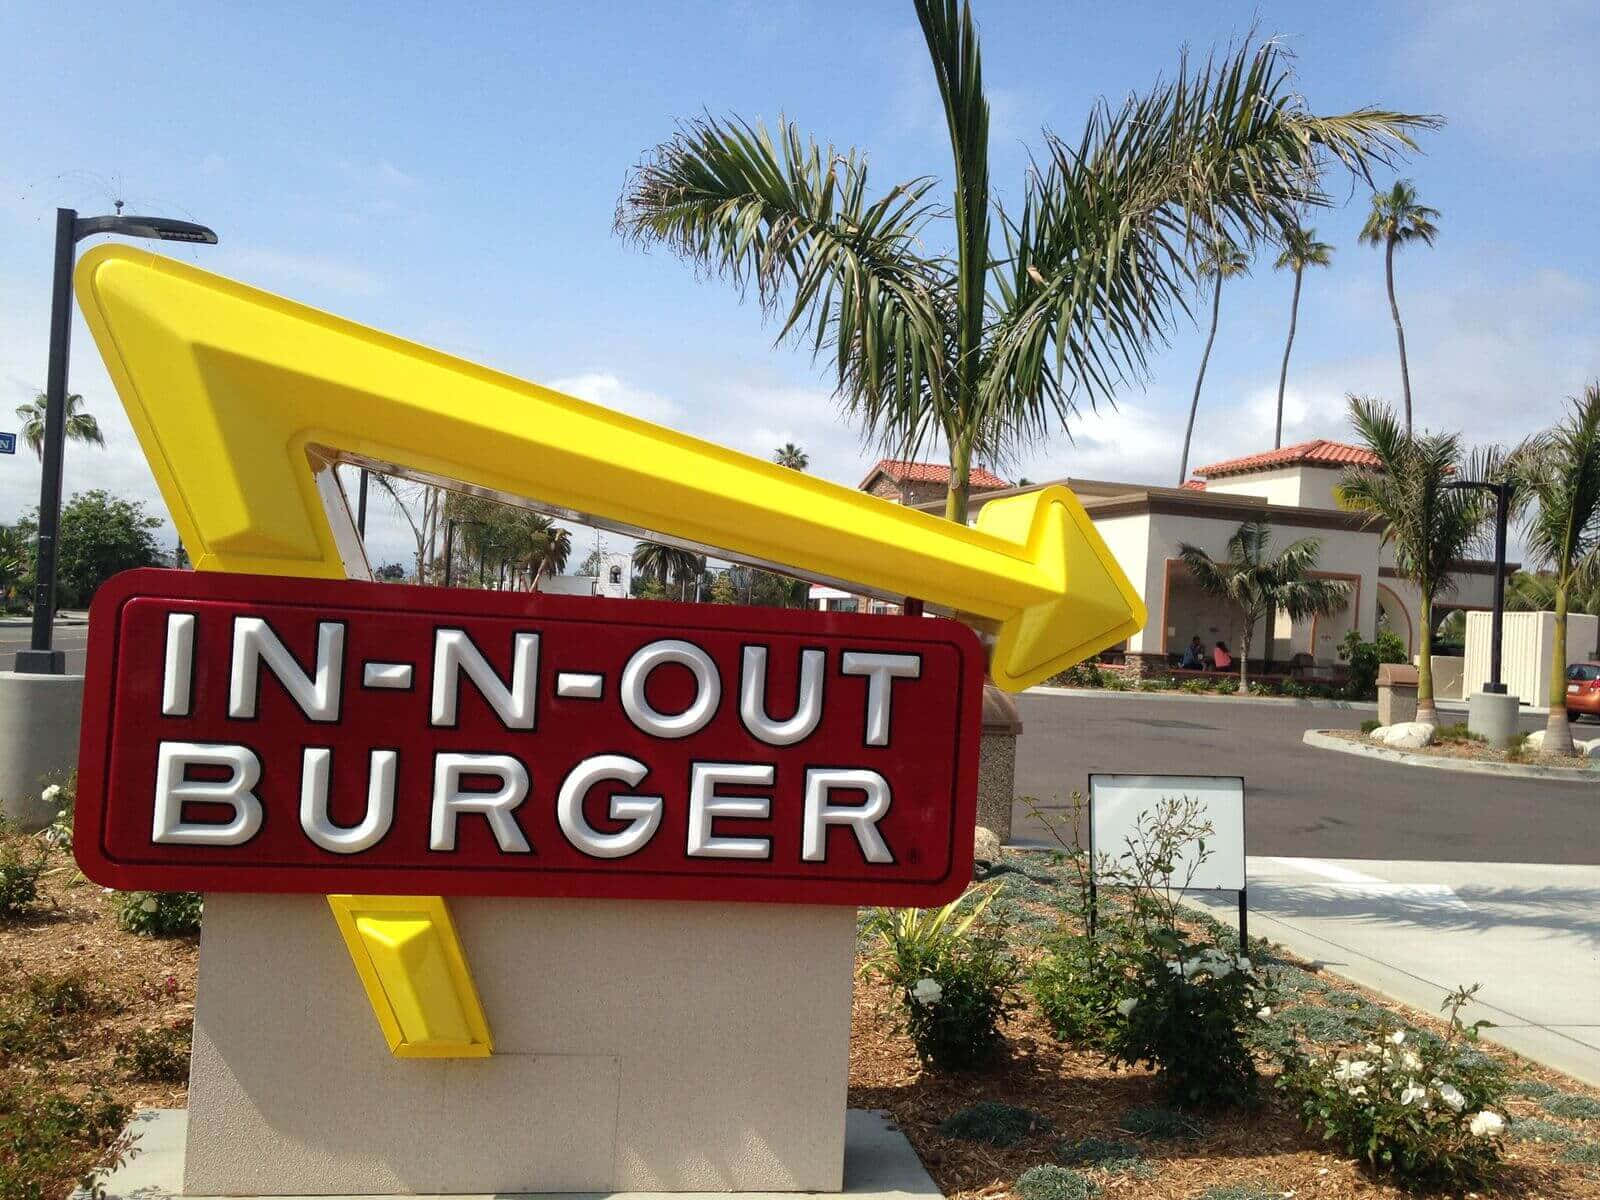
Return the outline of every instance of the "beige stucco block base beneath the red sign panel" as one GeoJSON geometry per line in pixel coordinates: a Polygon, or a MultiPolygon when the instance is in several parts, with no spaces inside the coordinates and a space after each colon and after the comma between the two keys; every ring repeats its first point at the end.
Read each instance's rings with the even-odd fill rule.
{"type": "Polygon", "coordinates": [[[450,907],[490,1058],[394,1058],[323,898],[206,896],[186,1195],[838,1190],[854,909],[450,907]]]}

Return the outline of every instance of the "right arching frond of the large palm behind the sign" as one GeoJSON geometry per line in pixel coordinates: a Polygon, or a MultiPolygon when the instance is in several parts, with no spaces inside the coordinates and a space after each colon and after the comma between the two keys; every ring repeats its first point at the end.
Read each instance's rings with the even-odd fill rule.
{"type": "Polygon", "coordinates": [[[1021,213],[1005,222],[984,406],[1008,426],[1064,421],[1146,373],[1147,347],[1187,312],[1200,238],[1272,238],[1323,206],[1322,174],[1370,179],[1437,117],[1379,109],[1322,117],[1293,91],[1282,46],[1248,43],[1118,107],[1072,142],[1050,138],[1021,213]]]}

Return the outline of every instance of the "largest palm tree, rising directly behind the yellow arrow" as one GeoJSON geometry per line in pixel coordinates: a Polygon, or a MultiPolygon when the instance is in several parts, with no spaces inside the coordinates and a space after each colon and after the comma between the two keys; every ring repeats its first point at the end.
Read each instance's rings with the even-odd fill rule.
{"type": "Polygon", "coordinates": [[[1370,178],[1416,149],[1434,117],[1378,109],[1318,117],[1274,42],[1243,45],[1146,96],[1096,104],[1078,139],[1045,138],[1013,214],[989,189],[989,101],[966,0],[912,0],[950,136],[954,202],[933,176],[874,197],[867,157],[781,122],[702,117],[650,150],[618,203],[618,230],[696,269],[754,285],[832,360],[835,390],[898,458],[942,442],[946,515],[966,520],[978,456],[1064,427],[1088,398],[1146,373],[1192,282],[1198,232],[1248,245],[1304,206],[1320,176],[1370,178]],[[952,221],[954,245],[928,226],[952,221]],[[997,253],[994,224],[1005,251],[997,253]]]}

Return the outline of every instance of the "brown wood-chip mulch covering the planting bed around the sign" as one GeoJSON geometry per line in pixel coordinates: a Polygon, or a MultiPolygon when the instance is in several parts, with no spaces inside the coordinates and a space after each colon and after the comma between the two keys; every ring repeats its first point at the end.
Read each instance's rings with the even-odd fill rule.
{"type": "MultiPolygon", "coordinates": [[[[1029,960],[1040,954],[1040,939],[1070,918],[1062,907],[1064,893],[1048,874],[1048,858],[1021,856],[1011,864],[1027,874],[1002,878],[994,909],[1014,931],[1016,954],[1029,960]]],[[[130,1107],[181,1107],[182,1080],[134,1078],[126,1051],[141,1035],[174,1026],[187,1029],[192,1022],[197,939],[152,939],[123,931],[115,918],[115,896],[77,877],[64,853],[53,854],[40,883],[40,899],[29,912],[0,920],[0,1096],[83,1099],[102,1088],[130,1107]],[[78,981],[90,1003],[54,1022],[59,1045],[24,1040],[18,1048],[6,1040],[5,1022],[8,1014],[26,1008],[38,990],[30,981],[40,979],[78,981]]],[[[864,942],[862,954],[867,950],[864,942]]],[[[1387,1006],[1379,997],[1304,963],[1282,962],[1285,966],[1278,970],[1293,984],[1285,1003],[1326,1010],[1333,1027],[1387,1006]]],[[[1122,1162],[1109,1168],[1078,1166],[1107,1197],[1402,1195],[1306,1134],[1272,1091],[1270,1078],[1264,1080],[1258,1109],[1178,1115],[1176,1128],[1168,1131],[1176,1136],[1162,1138],[1149,1128],[1160,1118],[1173,1120],[1173,1114],[1162,1109],[1155,1078],[1144,1070],[1115,1070],[1098,1053],[1059,1043],[1032,1006],[1021,1008],[1006,1026],[1003,1051],[989,1069],[960,1075],[923,1070],[909,1038],[896,1032],[898,1013],[898,998],[888,986],[858,974],[850,1104],[893,1114],[950,1197],[1011,1195],[1026,1170],[1061,1162],[1064,1144],[1090,1138],[1101,1142],[1086,1146],[1125,1142],[1133,1154],[1118,1150],[1122,1162]],[[941,1131],[949,1117],[982,1101],[1027,1109],[1037,1120],[1005,1147],[941,1131]]],[[[1402,1019],[1413,1027],[1443,1029],[1427,1014],[1403,1013],[1402,1019]]],[[[1574,1147],[1600,1149],[1600,1093],[1498,1048],[1488,1053],[1506,1062],[1517,1080],[1518,1094],[1504,1107],[1512,1131],[1528,1138],[1507,1144],[1504,1178],[1491,1194],[1600,1197],[1600,1165],[1563,1162],[1563,1155],[1589,1154],[1574,1147]],[[1597,1115],[1582,1115],[1590,1107],[1597,1115]]],[[[30,1190],[8,1184],[0,1200],[66,1197],[104,1154],[106,1142],[109,1136],[101,1144],[75,1146],[53,1166],[53,1174],[27,1181],[30,1190]]],[[[0,1142],[0,1179],[6,1178],[6,1154],[14,1150],[0,1142]]]]}

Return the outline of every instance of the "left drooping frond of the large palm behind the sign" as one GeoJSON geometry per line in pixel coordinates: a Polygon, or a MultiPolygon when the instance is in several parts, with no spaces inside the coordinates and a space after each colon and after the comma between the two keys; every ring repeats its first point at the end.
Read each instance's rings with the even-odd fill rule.
{"type": "Polygon", "coordinates": [[[830,354],[845,410],[869,437],[915,453],[942,432],[947,349],[936,293],[949,264],[922,254],[931,179],[867,194],[866,157],[784,122],[685,123],[635,168],[618,230],[661,243],[781,315],[778,339],[830,354]]]}

